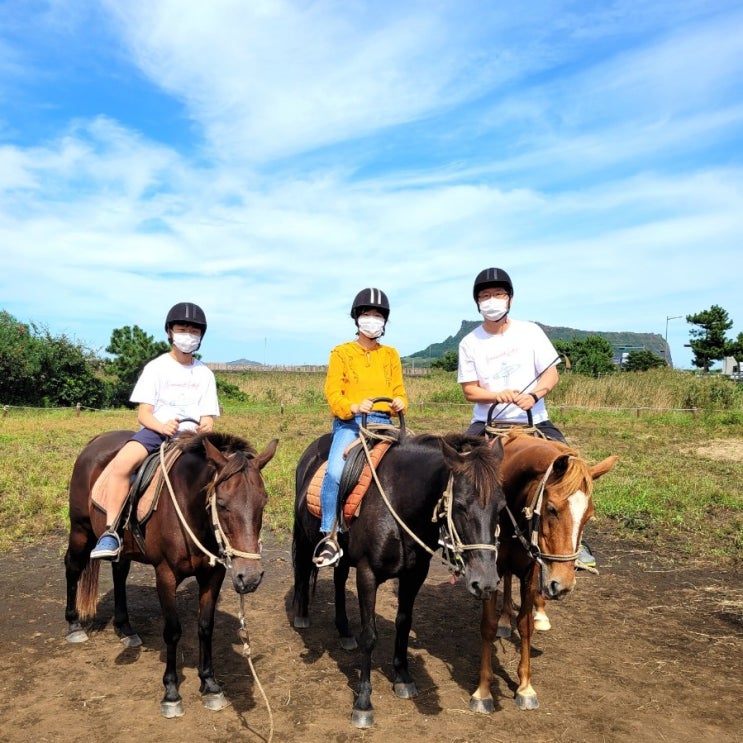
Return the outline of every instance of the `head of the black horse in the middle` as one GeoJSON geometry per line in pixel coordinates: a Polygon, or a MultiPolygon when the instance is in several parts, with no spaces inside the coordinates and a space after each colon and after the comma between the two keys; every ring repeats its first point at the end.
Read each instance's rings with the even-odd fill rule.
{"type": "Polygon", "coordinates": [[[464,564],[470,593],[487,599],[498,585],[496,532],[506,504],[500,473],[503,448],[449,434],[441,439],[441,450],[451,470],[446,509],[451,548],[464,564]]]}

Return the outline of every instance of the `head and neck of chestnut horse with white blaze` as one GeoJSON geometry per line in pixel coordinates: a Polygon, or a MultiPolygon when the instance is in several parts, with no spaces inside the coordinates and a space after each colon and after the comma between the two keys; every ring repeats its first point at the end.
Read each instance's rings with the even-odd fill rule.
{"type": "Polygon", "coordinates": [[[575,559],[583,528],[594,513],[593,482],[617,457],[589,466],[558,441],[516,434],[504,444],[504,487],[514,517],[537,559],[539,590],[559,599],[575,586],[575,559]]]}

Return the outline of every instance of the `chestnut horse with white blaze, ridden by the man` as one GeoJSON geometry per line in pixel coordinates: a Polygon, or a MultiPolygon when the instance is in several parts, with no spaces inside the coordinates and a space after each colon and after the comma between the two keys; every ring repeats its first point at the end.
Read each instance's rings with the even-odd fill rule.
{"type": "MultiPolygon", "coordinates": [[[[515,703],[536,709],[537,694],[531,685],[531,638],[537,594],[560,599],[575,586],[575,559],[586,522],[593,515],[593,481],[606,474],[617,457],[589,466],[577,452],[558,441],[513,432],[504,441],[503,490],[506,508],[501,512],[498,574],[521,581],[517,625],[521,638],[519,686],[515,703]]],[[[510,594],[510,591],[509,591],[510,594]]],[[[499,633],[499,594],[483,602],[480,626],[480,684],[470,698],[470,709],[494,710],[493,641],[499,633]]],[[[510,634],[510,614],[507,616],[510,634]]]]}

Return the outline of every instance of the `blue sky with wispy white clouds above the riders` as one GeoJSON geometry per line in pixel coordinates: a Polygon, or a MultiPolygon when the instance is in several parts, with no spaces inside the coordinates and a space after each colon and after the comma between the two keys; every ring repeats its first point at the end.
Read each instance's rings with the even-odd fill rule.
{"type": "Polygon", "coordinates": [[[683,316],[743,332],[743,8],[510,5],[0,0],[0,309],[102,352],[194,301],[207,361],[321,364],[363,287],[405,355],[500,266],[688,367],[683,316]]]}

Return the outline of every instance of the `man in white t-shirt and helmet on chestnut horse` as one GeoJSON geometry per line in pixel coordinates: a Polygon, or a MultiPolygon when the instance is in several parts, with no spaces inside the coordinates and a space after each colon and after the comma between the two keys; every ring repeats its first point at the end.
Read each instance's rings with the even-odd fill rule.
{"type": "Polygon", "coordinates": [[[482,435],[495,405],[495,425],[533,424],[546,438],[564,442],[544,404],[559,378],[554,346],[536,323],[509,317],[513,284],[502,268],[480,271],[473,296],[483,322],[459,344],[457,375],[465,398],[475,403],[467,432],[482,435]]]}

